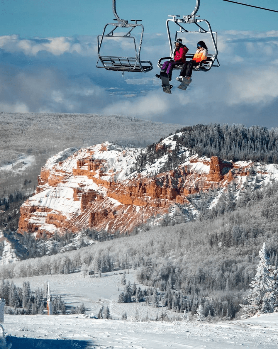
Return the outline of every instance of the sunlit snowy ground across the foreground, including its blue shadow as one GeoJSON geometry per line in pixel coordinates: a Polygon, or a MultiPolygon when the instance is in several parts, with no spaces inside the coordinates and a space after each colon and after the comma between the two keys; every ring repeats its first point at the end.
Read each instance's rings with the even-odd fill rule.
{"type": "Polygon", "coordinates": [[[13,348],[277,349],[278,314],[228,323],[96,320],[81,315],[5,315],[13,348]]]}

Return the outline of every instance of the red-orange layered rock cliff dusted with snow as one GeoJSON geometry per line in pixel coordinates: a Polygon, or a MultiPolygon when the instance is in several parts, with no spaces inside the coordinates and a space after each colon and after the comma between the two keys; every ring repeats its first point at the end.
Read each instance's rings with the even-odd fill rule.
{"type": "Polygon", "coordinates": [[[151,159],[148,148],[123,148],[108,142],[60,152],[47,160],[36,194],[21,206],[18,232],[36,236],[82,228],[130,232],[150,217],[156,224],[164,214],[179,212],[181,205],[196,213],[188,200],[190,194],[217,188],[212,207],[230,183],[239,195],[247,179],[257,177],[267,183],[278,178],[275,164],[199,158],[189,156],[186,148],[181,149],[180,161],[171,163],[170,171],[159,173],[169,164],[174,149],[175,141],[169,136],[157,144],[157,156],[151,159]],[[163,144],[167,151],[159,155],[163,144]],[[142,165],[144,158],[148,160],[142,165]]]}

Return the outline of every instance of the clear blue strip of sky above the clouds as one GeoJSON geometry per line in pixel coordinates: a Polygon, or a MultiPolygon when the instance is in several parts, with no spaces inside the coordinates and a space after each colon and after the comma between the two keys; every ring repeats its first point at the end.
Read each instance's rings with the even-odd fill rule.
{"type": "MultiPolygon", "coordinates": [[[[249,5],[278,11],[277,0],[240,0],[249,5]]],[[[140,19],[147,32],[165,31],[167,15],[188,15],[195,0],[116,0],[120,18],[140,19]],[[136,18],[135,18],[136,17],[136,18]]],[[[213,30],[271,30],[278,13],[236,5],[222,0],[201,0],[198,15],[213,30]]],[[[1,35],[22,38],[101,34],[112,21],[112,0],[1,0],[1,35]]]]}

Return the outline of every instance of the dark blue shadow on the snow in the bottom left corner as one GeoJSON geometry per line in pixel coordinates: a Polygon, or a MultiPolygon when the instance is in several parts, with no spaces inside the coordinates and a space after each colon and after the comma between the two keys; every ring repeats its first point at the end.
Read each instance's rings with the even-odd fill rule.
{"type": "Polygon", "coordinates": [[[70,339],[38,339],[27,337],[6,337],[7,347],[12,343],[11,349],[86,349],[92,348],[91,341],[78,341],[70,339]]]}

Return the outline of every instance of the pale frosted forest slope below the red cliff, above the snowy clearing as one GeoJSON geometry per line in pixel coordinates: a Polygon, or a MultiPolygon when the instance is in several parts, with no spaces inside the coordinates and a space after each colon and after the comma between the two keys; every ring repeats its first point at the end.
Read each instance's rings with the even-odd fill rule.
{"type": "Polygon", "coordinates": [[[152,288],[144,298],[149,305],[156,306],[159,297],[165,309],[195,313],[202,305],[205,316],[233,318],[244,303],[264,242],[270,264],[278,266],[278,183],[246,195],[248,200],[224,205],[217,216],[145,225],[132,236],[2,266],[1,279],[133,268],[137,281],[152,288]]]}

